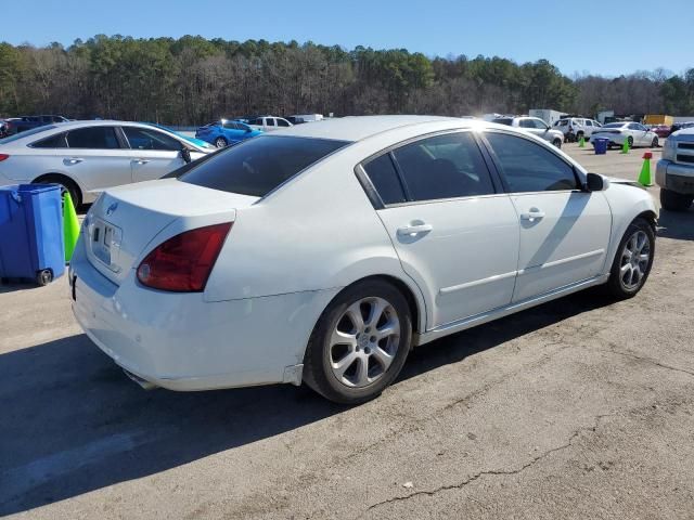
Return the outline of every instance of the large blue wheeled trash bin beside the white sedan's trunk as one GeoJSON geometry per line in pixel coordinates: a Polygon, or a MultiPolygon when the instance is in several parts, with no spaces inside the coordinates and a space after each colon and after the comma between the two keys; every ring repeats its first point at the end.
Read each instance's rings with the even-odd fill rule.
{"type": "Polygon", "coordinates": [[[46,285],[64,272],[61,187],[0,187],[0,277],[46,285]]]}

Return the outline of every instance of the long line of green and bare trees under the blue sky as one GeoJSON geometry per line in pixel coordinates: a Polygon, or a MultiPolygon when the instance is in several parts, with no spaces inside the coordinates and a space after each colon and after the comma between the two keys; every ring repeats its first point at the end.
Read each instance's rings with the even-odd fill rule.
{"type": "Polygon", "coordinates": [[[0,115],[61,114],[198,125],[244,114],[527,113],[694,115],[694,68],[569,78],[547,60],[427,57],[296,41],[99,35],[0,43],[0,115]]]}

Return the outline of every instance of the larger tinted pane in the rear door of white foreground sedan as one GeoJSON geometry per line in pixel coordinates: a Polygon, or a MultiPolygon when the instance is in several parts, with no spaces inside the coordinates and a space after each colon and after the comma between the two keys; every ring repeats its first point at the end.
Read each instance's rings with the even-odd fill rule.
{"type": "Polygon", "coordinates": [[[470,132],[423,139],[393,152],[412,200],[494,193],[487,165],[470,132]]]}

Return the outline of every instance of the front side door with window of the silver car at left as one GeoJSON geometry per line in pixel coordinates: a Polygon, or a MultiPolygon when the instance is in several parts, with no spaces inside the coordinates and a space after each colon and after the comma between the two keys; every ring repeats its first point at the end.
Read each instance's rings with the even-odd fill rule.
{"type": "Polygon", "coordinates": [[[154,128],[121,128],[130,147],[132,182],[160,179],[185,164],[180,141],[154,128]]]}

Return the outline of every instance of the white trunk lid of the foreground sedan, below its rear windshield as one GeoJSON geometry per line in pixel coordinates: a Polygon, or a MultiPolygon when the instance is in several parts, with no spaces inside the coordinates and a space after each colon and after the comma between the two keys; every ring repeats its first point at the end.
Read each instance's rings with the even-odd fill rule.
{"type": "MultiPolygon", "coordinates": [[[[176,179],[140,182],[110,188],[93,204],[85,219],[82,239],[90,263],[120,284],[136,262],[162,240],[162,231],[184,221],[183,227],[207,225],[215,217],[232,222],[236,209],[258,197],[197,186],[176,179]]],[[[181,232],[181,225],[175,226],[181,232]]],[[[177,233],[175,233],[177,234],[177,233]]],[[[163,235],[164,236],[164,235],[163,235]]],[[[166,236],[168,238],[168,236],[166,236]]]]}

